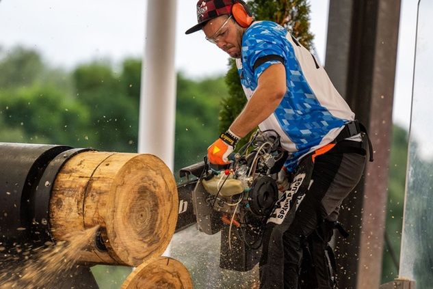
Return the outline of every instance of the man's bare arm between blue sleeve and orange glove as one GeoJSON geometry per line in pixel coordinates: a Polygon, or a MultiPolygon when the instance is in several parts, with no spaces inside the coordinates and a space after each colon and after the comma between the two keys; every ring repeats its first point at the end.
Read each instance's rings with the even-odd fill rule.
{"type": "Polygon", "coordinates": [[[230,130],[239,137],[245,137],[274,113],[286,91],[286,72],[283,64],[268,67],[259,77],[256,91],[231,124],[230,130]]]}

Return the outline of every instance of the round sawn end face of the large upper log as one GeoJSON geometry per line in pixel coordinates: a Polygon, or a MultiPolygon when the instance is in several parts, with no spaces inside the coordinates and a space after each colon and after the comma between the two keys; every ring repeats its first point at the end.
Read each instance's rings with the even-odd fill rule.
{"type": "Polygon", "coordinates": [[[125,163],[107,202],[109,250],[132,266],[160,256],[176,227],[176,192],[172,172],[156,156],[140,154],[125,163]]]}

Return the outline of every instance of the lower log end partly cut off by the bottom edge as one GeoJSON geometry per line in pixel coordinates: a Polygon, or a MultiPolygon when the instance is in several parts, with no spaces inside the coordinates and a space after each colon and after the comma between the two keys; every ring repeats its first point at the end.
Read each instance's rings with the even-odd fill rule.
{"type": "Polygon", "coordinates": [[[121,289],[191,289],[192,279],[183,264],[169,257],[148,260],[123,282],[121,289]]]}

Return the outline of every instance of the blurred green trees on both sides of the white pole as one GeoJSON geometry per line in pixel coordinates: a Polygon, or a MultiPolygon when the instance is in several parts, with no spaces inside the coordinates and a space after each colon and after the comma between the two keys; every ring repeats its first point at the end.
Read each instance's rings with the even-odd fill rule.
{"type": "MultiPolygon", "coordinates": [[[[0,141],[61,143],[136,152],[141,59],[81,64],[71,72],[44,64],[37,51],[0,51],[0,141]]],[[[175,171],[201,161],[218,137],[222,77],[178,76],[175,171]],[[192,141],[194,139],[195,141],[192,141]]]]}

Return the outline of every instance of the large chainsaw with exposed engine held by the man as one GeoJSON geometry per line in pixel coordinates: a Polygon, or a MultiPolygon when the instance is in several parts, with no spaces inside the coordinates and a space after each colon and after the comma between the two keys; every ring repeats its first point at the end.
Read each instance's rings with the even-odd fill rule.
{"type": "Polygon", "coordinates": [[[205,158],[179,171],[176,232],[194,223],[205,234],[221,232],[220,268],[249,271],[259,262],[265,222],[280,197],[276,180],[287,152],[275,130],[258,130],[229,159],[215,166],[205,158]]]}

